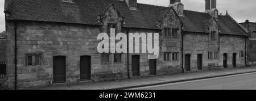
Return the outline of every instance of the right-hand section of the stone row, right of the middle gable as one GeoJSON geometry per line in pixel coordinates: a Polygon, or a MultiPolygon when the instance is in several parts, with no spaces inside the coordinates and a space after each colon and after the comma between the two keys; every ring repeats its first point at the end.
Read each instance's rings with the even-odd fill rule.
{"type": "Polygon", "coordinates": [[[219,15],[216,0],[205,12],[184,10],[184,68],[200,71],[246,66],[246,31],[228,12],[219,15]]]}

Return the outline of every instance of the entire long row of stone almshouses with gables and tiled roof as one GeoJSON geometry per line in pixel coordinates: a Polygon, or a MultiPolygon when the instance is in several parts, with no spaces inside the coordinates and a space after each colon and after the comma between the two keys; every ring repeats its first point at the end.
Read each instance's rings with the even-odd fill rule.
{"type": "MultiPolygon", "coordinates": [[[[207,0],[205,12],[183,8],[180,0],[168,7],[137,0],[6,0],[7,84],[14,89],[111,81],[222,69],[224,62],[227,68],[245,66],[245,30],[228,14],[218,15],[216,1],[207,0]],[[159,57],[99,53],[97,36],[110,28],[126,36],[159,33],[159,57]]],[[[135,44],[142,51],[147,39],[141,37],[135,44]]]]}

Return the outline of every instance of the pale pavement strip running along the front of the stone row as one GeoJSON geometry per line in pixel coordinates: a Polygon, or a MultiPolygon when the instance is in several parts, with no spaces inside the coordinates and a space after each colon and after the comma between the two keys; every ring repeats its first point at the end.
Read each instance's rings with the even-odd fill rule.
{"type": "Polygon", "coordinates": [[[171,75],[160,75],[147,78],[123,79],[118,81],[106,82],[82,82],[76,85],[53,85],[48,87],[30,88],[34,90],[120,90],[132,89],[136,87],[164,85],[168,83],[177,83],[185,81],[195,81],[199,79],[224,77],[229,75],[256,73],[256,67],[224,69],[214,71],[200,71],[195,73],[181,73],[171,75]]]}

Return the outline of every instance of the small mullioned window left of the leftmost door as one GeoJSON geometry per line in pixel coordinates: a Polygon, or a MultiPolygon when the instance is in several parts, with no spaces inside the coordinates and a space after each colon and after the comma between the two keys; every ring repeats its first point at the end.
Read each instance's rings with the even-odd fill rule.
{"type": "Polygon", "coordinates": [[[26,54],[26,65],[42,65],[42,54],[26,54]]]}

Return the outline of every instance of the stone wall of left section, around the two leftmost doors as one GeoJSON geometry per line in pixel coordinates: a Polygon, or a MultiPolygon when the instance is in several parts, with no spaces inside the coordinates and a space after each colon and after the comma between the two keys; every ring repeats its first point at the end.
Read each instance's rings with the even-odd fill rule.
{"type": "MultiPolygon", "coordinates": [[[[20,22],[17,27],[19,88],[52,85],[54,56],[66,56],[67,84],[80,82],[80,56],[85,55],[92,57],[93,81],[127,77],[126,62],[100,63],[100,53],[97,52],[97,45],[100,41],[97,40],[97,35],[104,32],[104,27],[35,22],[20,22]],[[43,65],[26,66],[25,54],[29,53],[43,53],[43,65]]],[[[12,85],[14,82],[13,33],[9,32],[8,37],[7,68],[9,69],[9,82],[12,85]]],[[[113,55],[110,58],[113,58],[113,55]]]]}

